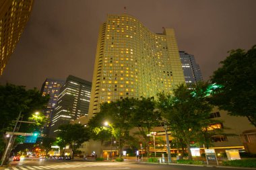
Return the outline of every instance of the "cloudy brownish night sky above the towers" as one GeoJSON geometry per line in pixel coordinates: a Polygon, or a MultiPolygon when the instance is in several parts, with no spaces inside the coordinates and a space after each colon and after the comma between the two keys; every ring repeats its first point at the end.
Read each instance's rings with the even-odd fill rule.
{"type": "Polygon", "coordinates": [[[92,81],[100,24],[125,6],[152,32],[174,28],[179,50],[194,54],[205,81],[228,50],[256,44],[254,0],[35,0],[0,83],[40,89],[46,78],[92,81]]]}

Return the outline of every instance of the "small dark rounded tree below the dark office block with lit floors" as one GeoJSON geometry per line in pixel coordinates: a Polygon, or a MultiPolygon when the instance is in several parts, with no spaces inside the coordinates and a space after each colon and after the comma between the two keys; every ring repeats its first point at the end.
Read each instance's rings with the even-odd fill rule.
{"type": "Polygon", "coordinates": [[[72,159],[77,148],[79,148],[83,142],[90,139],[89,129],[82,124],[62,124],[59,126],[59,130],[60,132],[57,136],[71,147],[72,159]]]}

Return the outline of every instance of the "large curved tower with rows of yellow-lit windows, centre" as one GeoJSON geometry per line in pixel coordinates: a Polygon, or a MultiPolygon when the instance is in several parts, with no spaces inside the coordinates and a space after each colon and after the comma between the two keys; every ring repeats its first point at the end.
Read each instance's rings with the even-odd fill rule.
{"type": "Polygon", "coordinates": [[[174,30],[154,34],[131,15],[108,15],[100,27],[89,114],[102,102],[151,97],[185,83],[174,30]]]}

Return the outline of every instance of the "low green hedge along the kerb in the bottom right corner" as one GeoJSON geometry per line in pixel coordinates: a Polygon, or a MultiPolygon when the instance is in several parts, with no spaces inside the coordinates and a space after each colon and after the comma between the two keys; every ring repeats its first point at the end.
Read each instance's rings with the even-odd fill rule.
{"type": "Polygon", "coordinates": [[[222,165],[231,167],[256,167],[256,159],[223,161],[222,165]]]}

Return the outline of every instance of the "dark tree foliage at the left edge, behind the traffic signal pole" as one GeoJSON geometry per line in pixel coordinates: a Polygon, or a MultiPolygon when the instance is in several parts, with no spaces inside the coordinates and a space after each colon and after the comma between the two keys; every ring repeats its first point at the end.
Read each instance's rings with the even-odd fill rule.
{"type": "MultiPolygon", "coordinates": [[[[4,136],[5,131],[12,131],[18,115],[22,114],[22,120],[28,120],[35,111],[40,111],[46,107],[49,96],[42,97],[37,89],[26,89],[24,86],[0,85],[0,133],[4,136]]],[[[22,124],[18,126],[20,132],[32,132],[40,129],[44,121],[38,124],[22,124]]],[[[4,138],[1,142],[6,142],[4,138]]],[[[2,148],[2,147],[1,147],[2,148]]]]}

